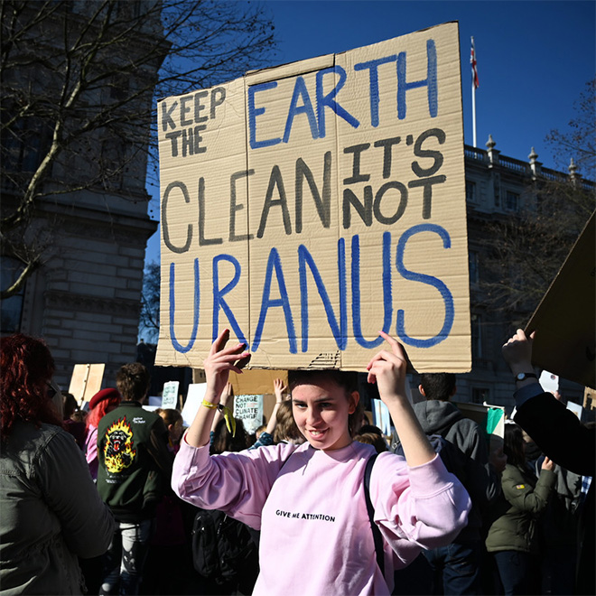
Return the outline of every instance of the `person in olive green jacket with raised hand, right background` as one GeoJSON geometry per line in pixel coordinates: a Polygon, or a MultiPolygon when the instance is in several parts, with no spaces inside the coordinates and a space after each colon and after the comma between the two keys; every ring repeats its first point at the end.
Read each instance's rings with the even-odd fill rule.
{"type": "Polygon", "coordinates": [[[506,424],[504,452],[508,463],[501,476],[503,498],[495,508],[486,539],[506,596],[540,593],[536,520],[545,510],[556,480],[554,462],[548,458],[536,479],[526,463],[525,444],[521,428],[506,424]]]}

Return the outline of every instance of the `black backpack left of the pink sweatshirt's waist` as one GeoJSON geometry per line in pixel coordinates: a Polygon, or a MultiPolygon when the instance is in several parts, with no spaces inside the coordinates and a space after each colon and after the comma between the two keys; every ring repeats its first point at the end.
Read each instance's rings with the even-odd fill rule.
{"type": "Polygon", "coordinates": [[[192,563],[197,573],[218,584],[254,584],[258,549],[248,526],[223,511],[199,509],[192,525],[192,563]]]}

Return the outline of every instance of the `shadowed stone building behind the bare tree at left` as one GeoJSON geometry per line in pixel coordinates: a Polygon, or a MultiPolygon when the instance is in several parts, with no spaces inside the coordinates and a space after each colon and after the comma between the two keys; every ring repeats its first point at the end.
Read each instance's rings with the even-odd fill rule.
{"type": "MultiPolygon", "coordinates": [[[[42,337],[56,362],[55,379],[64,389],[70,385],[76,364],[105,364],[104,386],[114,386],[117,369],[136,359],[144,253],[157,222],[148,215],[147,143],[139,141],[138,134],[133,142],[133,128],[129,131],[127,126],[134,120],[135,130],[139,126],[146,129],[148,142],[153,88],[161,58],[141,61],[139,67],[129,65],[163,38],[155,1],[104,5],[88,0],[25,5],[18,18],[29,19],[29,23],[34,23],[42,9],[47,8],[48,13],[30,33],[23,27],[25,33],[16,49],[21,55],[14,59],[17,66],[3,71],[6,101],[14,102],[15,111],[21,107],[19,85],[24,85],[23,94],[33,88],[34,97],[45,97],[48,106],[55,110],[48,122],[33,116],[28,120],[23,118],[23,125],[15,125],[32,128],[40,124],[33,135],[12,134],[12,130],[3,134],[3,158],[10,161],[3,166],[3,216],[23,200],[23,189],[33,172],[39,172],[40,164],[51,150],[52,131],[55,137],[56,122],[62,114],[68,113],[70,117],[65,124],[68,135],[77,126],[86,126],[87,121],[103,117],[106,106],[126,104],[129,98],[134,98],[126,104],[126,116],[119,116],[122,123],[117,125],[119,129],[102,121],[100,126],[90,128],[88,134],[79,135],[65,145],[52,161],[39,189],[40,198],[33,205],[32,217],[23,228],[28,246],[37,243],[40,265],[27,278],[20,293],[0,303],[2,334],[21,331],[42,337]],[[89,40],[98,47],[98,57],[88,75],[91,83],[87,81],[76,109],[67,112],[60,104],[61,86],[67,88],[64,80],[68,77],[76,80],[83,75],[79,65],[65,75],[68,66],[64,65],[64,57],[76,43],[82,45],[77,35],[82,35],[80,32],[88,23],[93,23],[96,10],[111,10],[114,27],[120,30],[126,29],[127,23],[140,24],[136,25],[133,39],[125,42],[124,51],[115,49],[114,39],[120,30],[115,29],[112,38],[100,32],[104,34],[100,42],[96,41],[98,37],[89,40]],[[149,11],[151,17],[142,18],[144,11],[149,11]],[[66,40],[68,35],[71,40],[66,40]],[[62,42],[64,46],[60,45],[62,42]],[[102,44],[107,48],[104,54],[102,44]],[[45,61],[40,56],[43,48],[47,53],[45,61]],[[21,60],[23,56],[27,60],[21,60]],[[33,69],[20,69],[20,60],[33,64],[33,69]],[[20,180],[24,181],[22,185],[20,180]]],[[[98,14],[101,16],[101,12],[98,14]]],[[[3,33],[7,22],[8,17],[6,21],[3,17],[3,33]]],[[[89,29],[87,34],[94,33],[89,29]]],[[[83,37],[80,40],[87,41],[83,37]]],[[[6,246],[0,258],[4,290],[20,274],[23,261],[6,246]]]]}

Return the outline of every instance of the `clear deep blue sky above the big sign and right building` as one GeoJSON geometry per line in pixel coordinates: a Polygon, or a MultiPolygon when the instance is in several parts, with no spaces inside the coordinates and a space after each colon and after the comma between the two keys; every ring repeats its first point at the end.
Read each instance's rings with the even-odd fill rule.
{"type": "MultiPolygon", "coordinates": [[[[470,36],[480,88],[477,141],[489,137],[502,154],[526,160],[532,146],[546,167],[561,169],[545,136],[564,130],[573,103],[596,76],[593,0],[269,0],[278,52],[275,63],[358,48],[448,21],[459,21],[464,135],[472,144],[470,36]]],[[[152,216],[159,213],[153,209],[152,216]]],[[[147,260],[159,260],[159,231],[147,260]]]]}

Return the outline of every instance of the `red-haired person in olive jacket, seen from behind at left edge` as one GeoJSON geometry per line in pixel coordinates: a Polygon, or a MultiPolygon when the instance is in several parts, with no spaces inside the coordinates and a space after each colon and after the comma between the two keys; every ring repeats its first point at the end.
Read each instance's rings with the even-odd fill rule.
{"type": "Polygon", "coordinates": [[[0,584],[19,594],[80,594],[77,557],[103,554],[114,519],[51,399],[42,340],[0,340],[0,584]]]}

